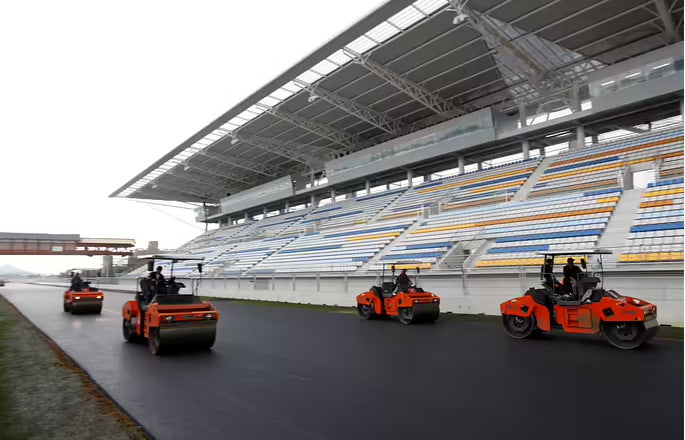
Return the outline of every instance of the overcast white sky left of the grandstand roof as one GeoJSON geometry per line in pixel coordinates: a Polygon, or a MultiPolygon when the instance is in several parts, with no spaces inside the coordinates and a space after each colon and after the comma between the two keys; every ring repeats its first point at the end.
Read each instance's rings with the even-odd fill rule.
{"type": "MultiPolygon", "coordinates": [[[[172,216],[194,224],[192,212],[107,196],[383,3],[0,3],[0,232],[187,242],[202,224],[172,216]]],[[[101,259],[3,264],[56,273],[101,259]]]]}

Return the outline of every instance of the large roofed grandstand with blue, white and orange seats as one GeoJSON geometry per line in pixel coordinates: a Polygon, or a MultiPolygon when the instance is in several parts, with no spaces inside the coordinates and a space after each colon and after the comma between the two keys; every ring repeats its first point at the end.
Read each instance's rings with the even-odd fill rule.
{"type": "Polygon", "coordinates": [[[538,252],[601,246],[682,322],[683,6],[667,6],[389,2],[112,196],[195,204],[217,228],[180,250],[251,279],[245,297],[315,277],[290,298],[326,303],[321,277],[347,289],[412,261],[460,286],[448,310],[491,312],[538,252]]]}

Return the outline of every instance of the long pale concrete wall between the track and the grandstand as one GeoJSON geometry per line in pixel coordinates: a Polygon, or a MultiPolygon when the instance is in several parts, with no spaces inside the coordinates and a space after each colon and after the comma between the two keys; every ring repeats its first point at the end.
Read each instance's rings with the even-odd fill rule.
{"type": "MultiPolygon", "coordinates": [[[[135,280],[101,280],[103,289],[135,290],[135,280]]],[[[183,280],[190,286],[189,280],[183,280]]],[[[292,303],[354,306],[357,294],[378,282],[375,276],[297,275],[267,278],[205,278],[199,294],[292,303]]],[[[499,314],[499,304],[521,295],[528,287],[538,286],[537,274],[431,274],[423,276],[420,285],[440,295],[443,312],[499,314]]],[[[634,296],[658,307],[659,322],[683,326],[683,275],[678,273],[609,273],[606,288],[622,295],[634,296]]]]}

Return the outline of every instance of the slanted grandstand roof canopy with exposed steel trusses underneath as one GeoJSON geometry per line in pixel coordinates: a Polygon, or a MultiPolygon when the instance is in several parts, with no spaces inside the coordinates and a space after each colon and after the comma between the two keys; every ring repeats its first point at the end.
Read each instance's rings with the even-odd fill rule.
{"type": "Polygon", "coordinates": [[[111,197],[218,202],[484,107],[568,107],[588,73],[681,41],[682,10],[683,0],[390,1],[111,197]]]}

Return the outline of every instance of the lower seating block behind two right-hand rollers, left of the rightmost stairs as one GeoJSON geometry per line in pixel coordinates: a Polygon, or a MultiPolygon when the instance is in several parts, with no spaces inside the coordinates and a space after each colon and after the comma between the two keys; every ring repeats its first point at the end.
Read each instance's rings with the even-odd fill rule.
{"type": "Polygon", "coordinates": [[[439,261],[453,245],[491,240],[477,267],[541,264],[538,251],[593,246],[621,195],[620,190],[455,210],[423,221],[386,255],[401,252],[439,261]],[[397,251],[396,251],[397,249],[397,251]]]}

